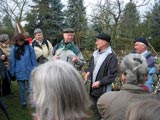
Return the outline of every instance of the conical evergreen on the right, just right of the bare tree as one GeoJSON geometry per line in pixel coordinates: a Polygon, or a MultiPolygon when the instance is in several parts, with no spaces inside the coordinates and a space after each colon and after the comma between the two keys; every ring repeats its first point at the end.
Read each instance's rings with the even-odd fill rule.
{"type": "Polygon", "coordinates": [[[126,4],[124,13],[121,17],[120,22],[120,35],[126,38],[135,38],[137,35],[137,28],[139,26],[139,13],[137,11],[136,5],[130,0],[126,4]]]}

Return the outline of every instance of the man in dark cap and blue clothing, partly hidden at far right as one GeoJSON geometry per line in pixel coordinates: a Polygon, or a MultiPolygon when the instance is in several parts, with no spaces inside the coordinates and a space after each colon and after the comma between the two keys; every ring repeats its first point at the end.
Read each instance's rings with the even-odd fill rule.
{"type": "Polygon", "coordinates": [[[155,73],[155,59],[150,51],[147,50],[148,42],[145,38],[137,38],[134,41],[134,49],[136,53],[141,54],[147,60],[149,76],[148,80],[145,82],[145,85],[148,87],[149,92],[153,91],[153,75],[155,73]]]}

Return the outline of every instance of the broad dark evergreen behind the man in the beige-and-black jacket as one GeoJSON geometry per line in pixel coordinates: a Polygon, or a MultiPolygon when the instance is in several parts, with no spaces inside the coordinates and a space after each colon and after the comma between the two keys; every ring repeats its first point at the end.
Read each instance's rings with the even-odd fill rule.
{"type": "Polygon", "coordinates": [[[33,0],[36,5],[32,6],[32,10],[28,13],[27,29],[33,30],[41,28],[45,38],[52,40],[62,32],[64,22],[64,14],[62,12],[63,5],[60,0],[33,0]]]}

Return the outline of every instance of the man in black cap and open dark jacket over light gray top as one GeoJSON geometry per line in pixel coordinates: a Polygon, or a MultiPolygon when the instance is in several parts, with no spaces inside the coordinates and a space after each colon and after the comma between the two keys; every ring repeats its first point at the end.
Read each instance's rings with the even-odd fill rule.
{"type": "Polygon", "coordinates": [[[96,36],[97,50],[93,52],[85,80],[91,79],[90,96],[93,100],[94,118],[99,120],[96,103],[98,98],[105,92],[111,91],[118,72],[118,61],[110,46],[111,37],[108,34],[100,33],[96,36]]]}

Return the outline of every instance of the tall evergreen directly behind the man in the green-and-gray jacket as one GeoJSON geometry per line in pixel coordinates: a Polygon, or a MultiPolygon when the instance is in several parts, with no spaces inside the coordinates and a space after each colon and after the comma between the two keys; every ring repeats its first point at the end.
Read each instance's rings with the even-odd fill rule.
{"type": "Polygon", "coordinates": [[[76,31],[75,41],[83,46],[87,27],[86,11],[83,0],[68,0],[65,24],[76,31]]]}

